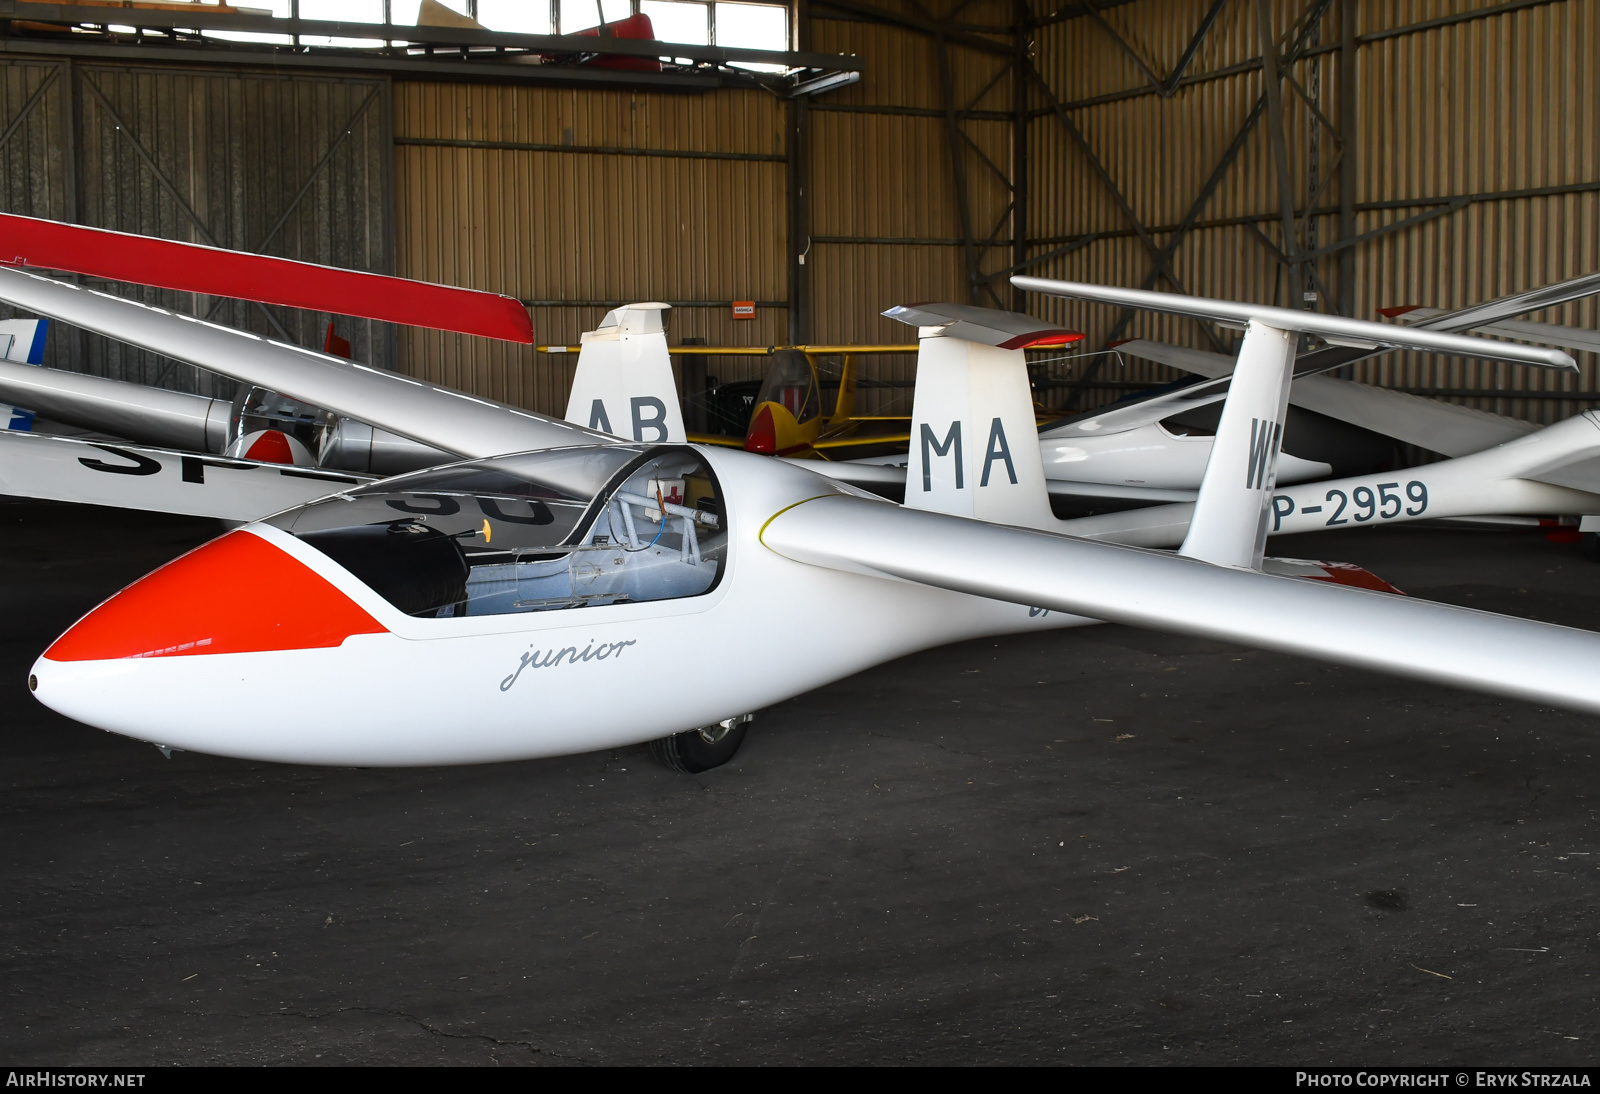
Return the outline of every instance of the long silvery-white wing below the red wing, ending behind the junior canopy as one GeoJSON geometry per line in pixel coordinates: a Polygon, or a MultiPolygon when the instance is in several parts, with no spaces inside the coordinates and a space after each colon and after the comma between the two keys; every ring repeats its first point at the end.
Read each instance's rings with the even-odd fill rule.
{"type": "Polygon", "coordinates": [[[118,296],[0,269],[0,301],[461,456],[616,443],[544,414],[118,296]]]}

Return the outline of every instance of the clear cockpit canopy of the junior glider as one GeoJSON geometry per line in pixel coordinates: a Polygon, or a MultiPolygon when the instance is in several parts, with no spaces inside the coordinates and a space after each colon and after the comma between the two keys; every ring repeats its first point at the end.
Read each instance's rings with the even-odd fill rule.
{"type": "Polygon", "coordinates": [[[389,478],[267,523],[400,611],[443,619],[707,593],[723,512],[694,449],[598,445],[389,478]]]}

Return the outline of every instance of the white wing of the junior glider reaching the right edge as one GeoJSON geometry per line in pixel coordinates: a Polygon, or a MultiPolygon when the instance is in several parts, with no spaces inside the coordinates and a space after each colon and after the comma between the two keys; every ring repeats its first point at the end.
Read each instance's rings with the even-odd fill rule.
{"type": "Polygon", "coordinates": [[[792,505],[798,563],[1600,713],[1600,635],[861,497],[792,505]]]}

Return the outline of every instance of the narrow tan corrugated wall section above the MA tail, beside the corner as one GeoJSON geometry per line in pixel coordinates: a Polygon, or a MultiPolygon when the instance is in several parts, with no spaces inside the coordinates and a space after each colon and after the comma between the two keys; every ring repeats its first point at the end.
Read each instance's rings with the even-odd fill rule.
{"type": "MultiPolygon", "coordinates": [[[[1006,22],[1005,3],[973,3],[963,19],[1006,22]]],[[[816,18],[810,48],[854,53],[861,82],[810,109],[808,250],[816,342],[910,342],[915,333],[880,312],[894,304],[968,299],[962,219],[934,40],[875,22],[816,18]]],[[[973,234],[1010,248],[1011,80],[1005,58],[949,46],[950,99],[963,115],[966,200],[973,234]],[[997,78],[998,77],[998,78],[997,78]],[[978,115],[978,117],[973,117],[978,115]]],[[[1005,251],[1002,251],[1005,253],[1005,251]]],[[[1000,262],[994,253],[987,267],[1000,262]]],[[[994,304],[986,299],[984,302],[994,304]]],[[[872,358],[869,379],[909,385],[915,360],[872,358]]],[[[874,413],[909,413],[909,387],[866,393],[874,413]]]]}

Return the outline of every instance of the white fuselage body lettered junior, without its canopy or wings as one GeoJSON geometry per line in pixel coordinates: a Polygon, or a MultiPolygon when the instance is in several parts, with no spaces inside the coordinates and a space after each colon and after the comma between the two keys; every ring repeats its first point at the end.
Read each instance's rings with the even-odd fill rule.
{"type": "MultiPolygon", "coordinates": [[[[698,451],[720,480],[728,515],[723,571],[704,595],[416,617],[306,541],[254,523],[232,534],[259,537],[376,625],[331,646],[294,648],[288,633],[280,645],[290,648],[67,661],[59,649],[70,651],[69,632],[35,664],[35,694],[78,721],[173,749],[350,766],[482,763],[645,742],[917,649],[1091,622],[782,558],[762,545],[763,523],[838,488],[778,461],[698,451]],[[797,608],[850,603],[853,622],[802,609],[776,627],[774,598],[797,608]]],[[[238,574],[235,593],[275,590],[238,574]]],[[[304,613],[338,608],[282,603],[278,611],[293,630],[304,613]]],[[[94,624],[91,613],[78,627],[94,624]]]]}

